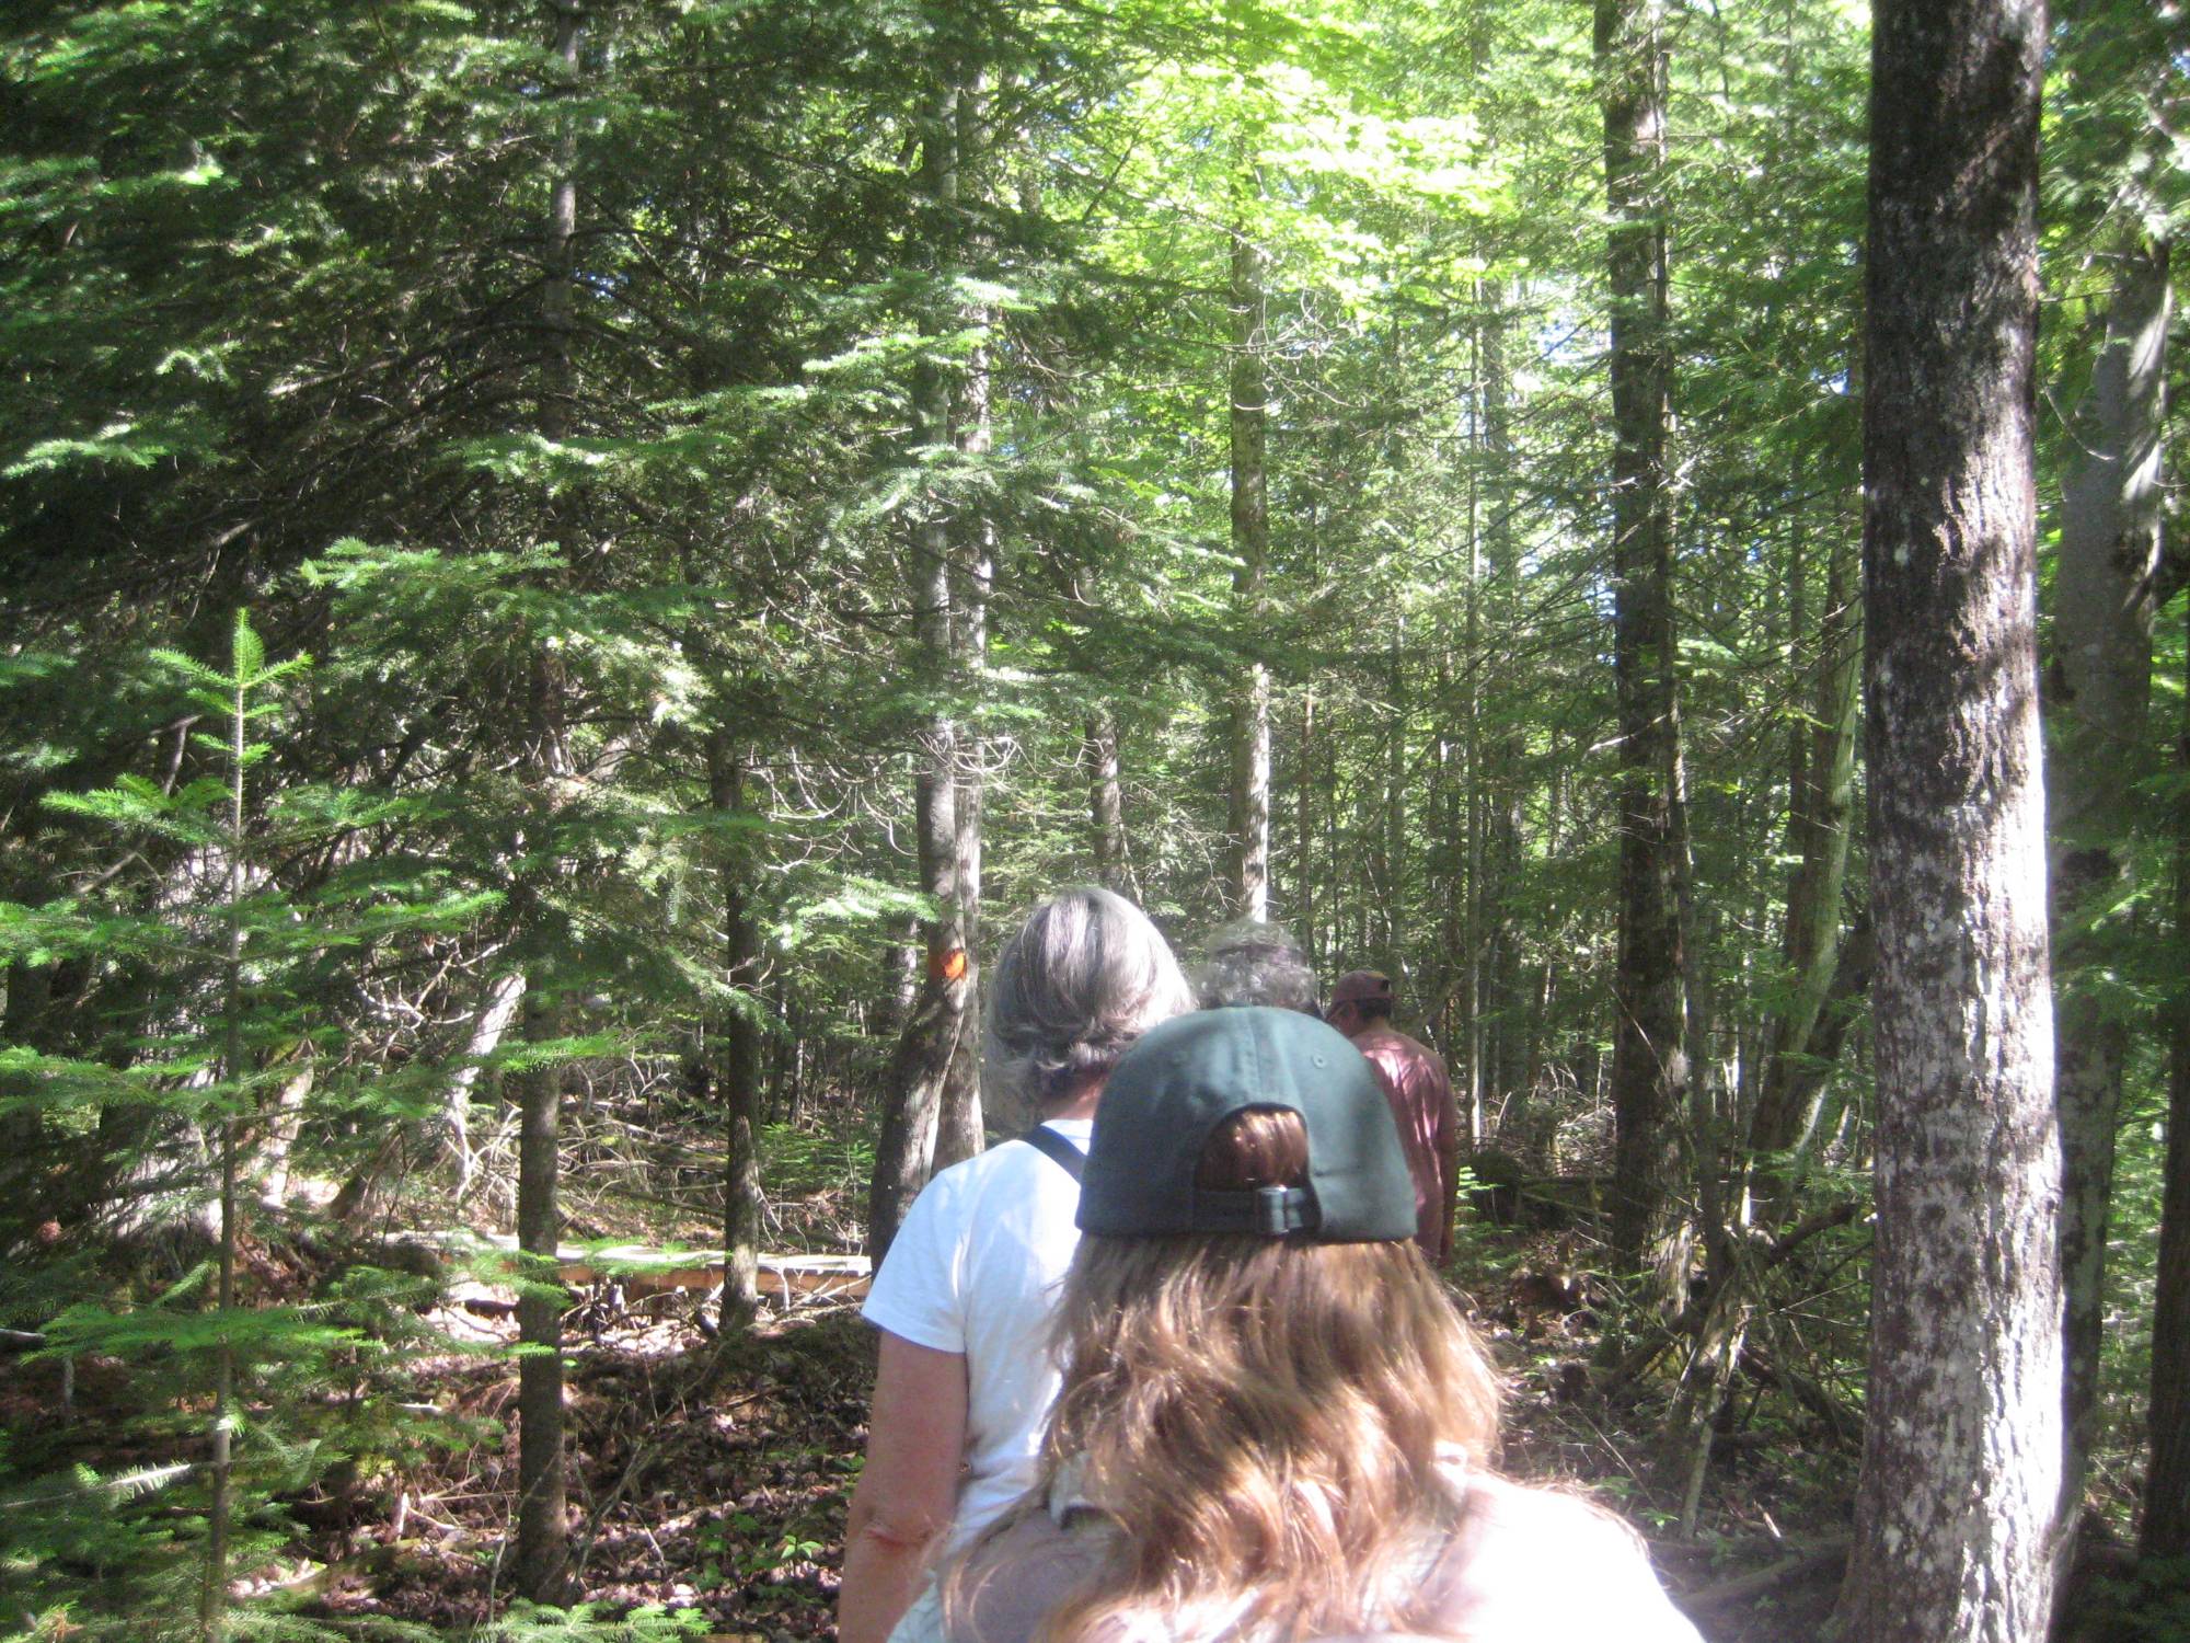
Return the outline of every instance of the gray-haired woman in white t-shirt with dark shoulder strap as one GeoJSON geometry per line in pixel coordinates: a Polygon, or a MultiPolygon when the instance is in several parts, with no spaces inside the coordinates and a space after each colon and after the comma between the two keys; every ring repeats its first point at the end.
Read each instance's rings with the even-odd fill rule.
{"type": "Polygon", "coordinates": [[[865,1317],[883,1341],[845,1523],[843,1643],[880,1643],[937,1538],[964,1547],[1031,1485],[1095,1104],[1119,1056],[1191,1008],[1148,916],[1093,885],[1036,907],[996,960],[990,1080],[1040,1124],[929,1181],[874,1277],[865,1317]]]}

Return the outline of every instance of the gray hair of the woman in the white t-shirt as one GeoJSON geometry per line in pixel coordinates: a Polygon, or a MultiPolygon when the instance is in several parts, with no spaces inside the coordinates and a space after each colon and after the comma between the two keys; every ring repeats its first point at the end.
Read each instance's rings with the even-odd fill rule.
{"type": "Polygon", "coordinates": [[[996,957],[983,1056],[990,1104],[1001,1095],[1036,1113],[1191,1008],[1194,990],[1148,914],[1097,885],[1060,889],[996,957]]]}

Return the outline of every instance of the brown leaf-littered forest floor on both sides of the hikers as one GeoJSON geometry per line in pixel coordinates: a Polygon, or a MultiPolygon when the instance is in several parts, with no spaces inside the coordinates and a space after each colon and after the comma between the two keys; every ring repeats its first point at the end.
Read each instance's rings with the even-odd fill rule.
{"type": "MultiPolygon", "coordinates": [[[[808,1170],[808,1190],[771,1200],[771,1246],[845,1253],[861,1179],[863,1159],[828,1150],[808,1170]]],[[[611,1194],[572,1196],[574,1233],[596,1242],[690,1246],[705,1236],[705,1222],[685,1214],[646,1225],[618,1214],[611,1194]]],[[[1848,1238],[1857,1236],[1851,1227],[1848,1238]]],[[[263,1222],[245,1246],[245,1282],[261,1301],[300,1301],[324,1295],[359,1255],[372,1249],[335,1253],[263,1222]]],[[[191,1255],[169,1260],[180,1271],[191,1255]]],[[[1603,1352],[1603,1330],[1618,1328],[1618,1317],[1590,1271],[1586,1225],[1465,1222],[1445,1271],[1505,1378],[1505,1470],[1621,1512],[1710,1643],[1809,1643],[1831,1612],[1859,1459],[1855,1393],[1831,1371],[1862,1360],[1862,1317],[1835,1299],[1840,1260],[1846,1251],[1820,1255],[1811,1299],[1774,1321],[1770,1347],[1737,1378],[1691,1533],[1680,1531],[1660,1479],[1669,1365],[1623,1387],[1607,1387],[1594,1367],[1618,1356],[1603,1352]],[[1807,1402],[1787,1395],[1796,1363],[1818,1376],[1805,1382],[1807,1402]],[[1851,1409],[1837,1411],[1842,1402],[1851,1409]]],[[[856,1297],[830,1284],[837,1295],[766,1284],[753,1328],[727,1338],[703,1328],[705,1301],[692,1290],[574,1290],[565,1319],[572,1553],[593,1615],[688,1610],[705,1636],[740,1643],[832,1634],[874,1336],[856,1297]]],[[[427,1415],[442,1437],[381,1444],[372,1459],[337,1466],[309,1494],[289,1496],[293,1538],[239,1590],[285,1595],[326,1619],[412,1621],[449,1636],[508,1610],[515,1290],[453,1271],[440,1273],[438,1288],[420,1286],[438,1299],[423,1312],[385,1310],[390,1356],[346,1395],[366,1417],[381,1413],[374,1402],[427,1415]]],[[[123,1437],[129,1417],[149,1409],[129,1369],[85,1358],[70,1380],[61,1374],[50,1356],[0,1354],[0,1457],[35,1461],[39,1472],[175,1457],[123,1437]]],[[[388,1413],[383,1426],[403,1420],[416,1415],[388,1413]]],[[[2172,1630],[2175,1621],[2100,1621],[2116,1604],[2105,1588],[2100,1597],[2078,1639],[2179,1643],[2190,1634],[2172,1630]]],[[[2190,1621],[2179,1608],[2168,1615],[2190,1621]]]]}

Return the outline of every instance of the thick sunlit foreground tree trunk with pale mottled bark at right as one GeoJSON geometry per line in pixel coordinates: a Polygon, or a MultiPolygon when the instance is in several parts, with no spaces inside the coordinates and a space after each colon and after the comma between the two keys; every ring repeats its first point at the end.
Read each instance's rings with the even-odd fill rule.
{"type": "Polygon", "coordinates": [[[1864,670],[1877,1244],[1851,1643],[2035,1643],[2061,1485],[2032,348],[2041,0],[1881,0],[1864,670]]]}

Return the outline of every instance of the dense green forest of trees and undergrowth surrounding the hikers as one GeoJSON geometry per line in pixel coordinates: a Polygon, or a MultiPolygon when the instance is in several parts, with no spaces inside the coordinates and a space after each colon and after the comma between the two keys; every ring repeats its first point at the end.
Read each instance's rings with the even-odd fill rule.
{"type": "Polygon", "coordinates": [[[0,1632],[823,1634],[1104,883],[1395,977],[1507,1466],[1708,1636],[2190,1636],[2186,96],[2137,0],[13,0],[0,1632]]]}

